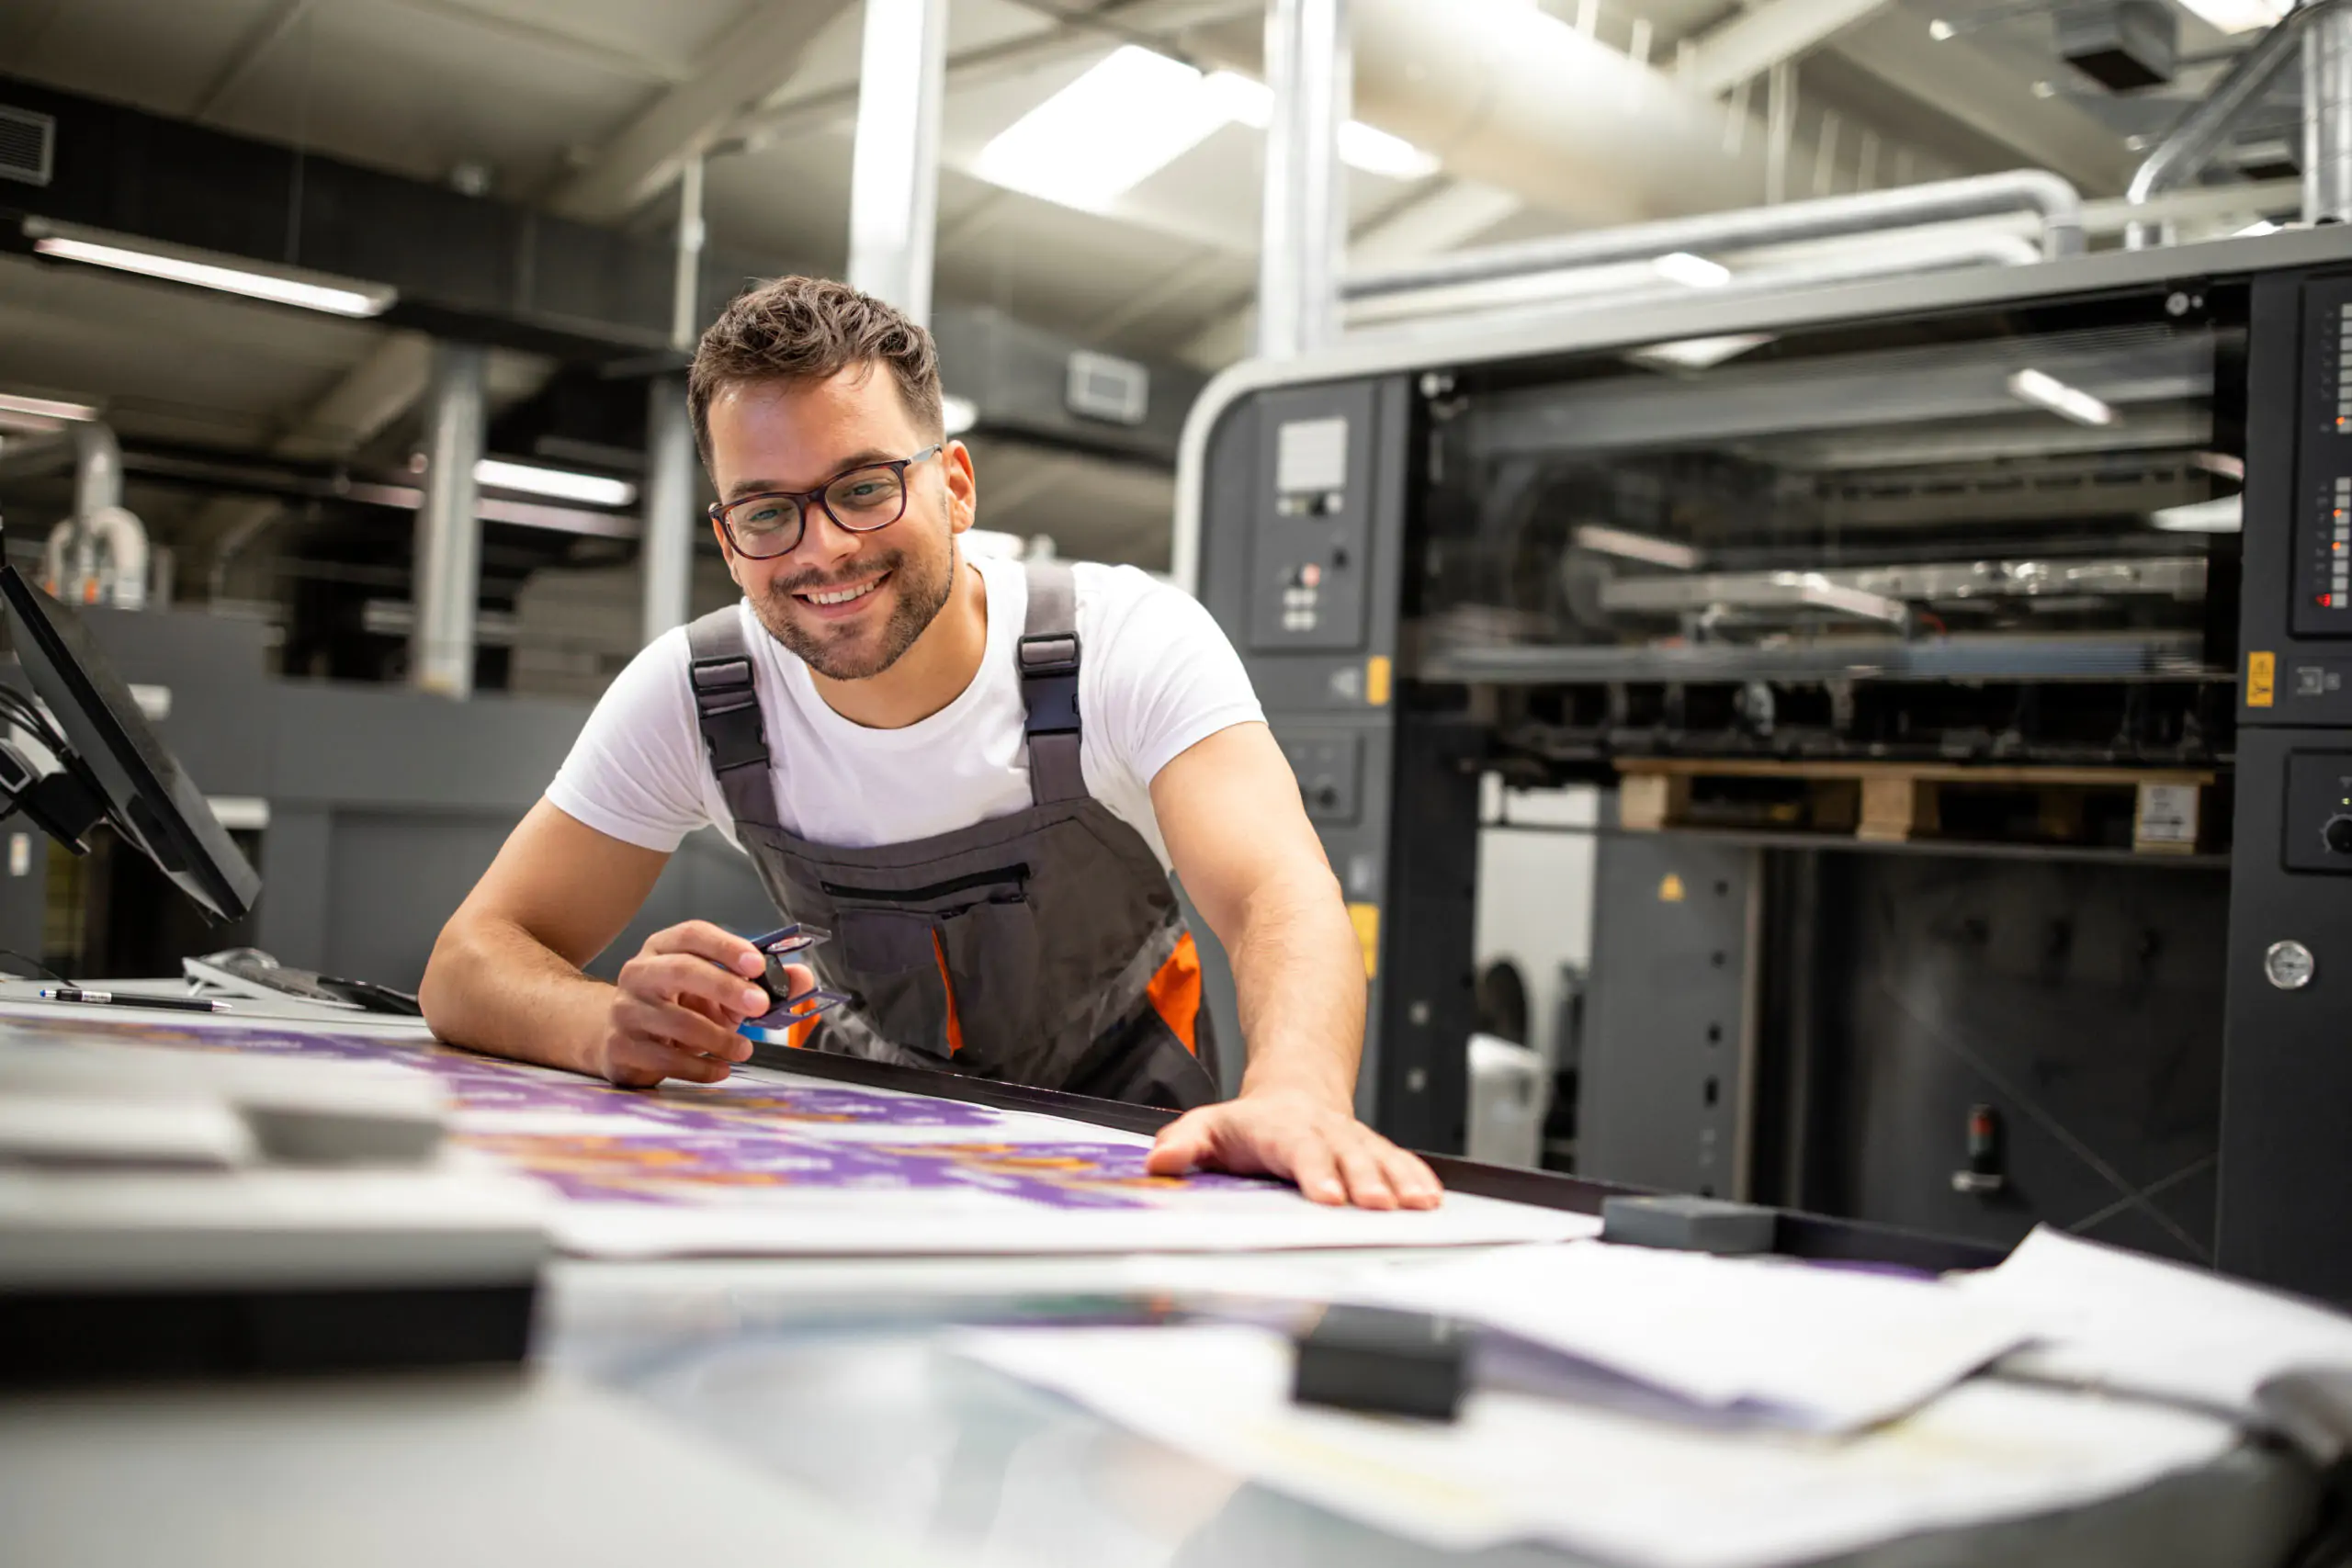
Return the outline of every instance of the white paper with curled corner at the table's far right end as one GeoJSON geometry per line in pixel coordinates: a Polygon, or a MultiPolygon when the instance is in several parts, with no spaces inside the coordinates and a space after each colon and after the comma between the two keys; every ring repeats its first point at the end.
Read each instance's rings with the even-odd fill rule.
{"type": "Polygon", "coordinates": [[[2044,1378],[2251,1413],[2274,1373],[2352,1368],[2352,1316],[2046,1225],[1952,1284],[2034,1331],[2006,1366],[2044,1378]]]}

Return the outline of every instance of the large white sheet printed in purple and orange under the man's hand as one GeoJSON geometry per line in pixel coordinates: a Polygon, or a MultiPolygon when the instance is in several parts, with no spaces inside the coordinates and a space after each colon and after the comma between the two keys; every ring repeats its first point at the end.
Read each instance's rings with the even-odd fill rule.
{"type": "Polygon", "coordinates": [[[1449,1194],[1428,1213],[1308,1204],[1282,1182],[1143,1173],[1150,1138],[1061,1117],[736,1067],[652,1091],[381,1027],[89,1020],[9,1009],[26,1037],[92,1037],[435,1074],[461,1152],[534,1178],[560,1248],[590,1258],[1131,1253],[1562,1241],[1588,1215],[1449,1194]]]}

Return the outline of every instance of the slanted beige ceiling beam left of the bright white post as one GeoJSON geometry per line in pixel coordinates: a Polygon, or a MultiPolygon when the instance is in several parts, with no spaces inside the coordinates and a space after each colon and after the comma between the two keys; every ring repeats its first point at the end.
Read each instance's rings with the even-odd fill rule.
{"type": "Polygon", "coordinates": [[[555,212],[614,223],[677,179],[743,115],[800,68],[800,59],[849,0],[760,0],[710,49],[691,80],[661,92],[555,193],[555,212]]]}

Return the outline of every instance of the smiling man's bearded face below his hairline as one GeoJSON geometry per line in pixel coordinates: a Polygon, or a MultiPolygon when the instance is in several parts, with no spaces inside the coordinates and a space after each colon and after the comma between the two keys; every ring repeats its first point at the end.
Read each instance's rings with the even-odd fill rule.
{"type": "MultiPolygon", "coordinates": [[[[708,418],[720,501],[811,491],[851,468],[931,444],[908,418],[889,369],[875,364],[809,383],[724,386],[708,418]]],[[[971,454],[948,442],[906,470],[906,515],[889,527],[851,534],[809,505],[800,543],[783,555],[741,555],[724,529],[720,545],[729,576],[776,642],[818,675],[866,679],[898,663],[946,609],[955,590],[955,536],[971,527],[971,454]],[[851,597],[842,599],[844,592],[851,597]]]]}

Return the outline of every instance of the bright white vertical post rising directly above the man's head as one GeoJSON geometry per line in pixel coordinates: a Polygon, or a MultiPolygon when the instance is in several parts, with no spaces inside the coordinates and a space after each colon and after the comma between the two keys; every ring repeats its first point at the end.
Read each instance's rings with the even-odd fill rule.
{"type": "Polygon", "coordinates": [[[948,0],[866,0],[849,158],[849,284],[931,324],[948,0]]]}

